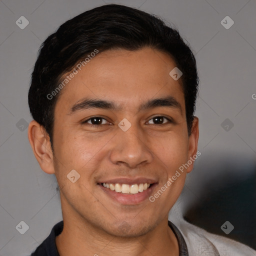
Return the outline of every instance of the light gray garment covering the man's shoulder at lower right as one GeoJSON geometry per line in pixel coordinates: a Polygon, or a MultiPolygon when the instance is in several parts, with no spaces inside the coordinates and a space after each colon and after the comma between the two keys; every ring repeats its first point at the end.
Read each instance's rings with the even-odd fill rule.
{"type": "Polygon", "coordinates": [[[185,220],[176,223],[186,242],[189,255],[255,256],[256,251],[235,240],[207,232],[185,220]]]}

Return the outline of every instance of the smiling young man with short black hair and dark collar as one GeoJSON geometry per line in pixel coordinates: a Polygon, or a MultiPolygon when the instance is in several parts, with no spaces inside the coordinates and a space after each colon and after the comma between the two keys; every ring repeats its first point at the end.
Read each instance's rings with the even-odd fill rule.
{"type": "Polygon", "coordinates": [[[197,84],[178,31],[134,8],[91,9],[43,42],[28,138],[56,175],[63,221],[31,255],[255,255],[168,221],[200,154],[197,84]]]}

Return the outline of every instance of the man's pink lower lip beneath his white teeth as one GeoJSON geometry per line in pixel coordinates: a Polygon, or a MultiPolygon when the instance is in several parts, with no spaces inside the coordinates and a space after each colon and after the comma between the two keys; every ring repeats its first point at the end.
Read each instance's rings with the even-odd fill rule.
{"type": "Polygon", "coordinates": [[[98,184],[98,186],[113,200],[121,204],[131,205],[131,204],[141,203],[142,201],[148,199],[148,197],[152,193],[156,184],[157,183],[153,183],[150,187],[148,187],[143,192],[138,192],[136,194],[125,194],[121,192],[115,192],[114,190],[106,188],[101,184],[98,184]]]}

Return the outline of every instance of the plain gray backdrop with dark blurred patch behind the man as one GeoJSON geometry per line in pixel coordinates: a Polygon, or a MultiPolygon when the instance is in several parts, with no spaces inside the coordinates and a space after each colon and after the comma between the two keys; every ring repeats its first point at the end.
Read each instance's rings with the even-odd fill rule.
{"type": "Polygon", "coordinates": [[[189,42],[197,60],[201,156],[169,218],[175,222],[182,214],[221,235],[220,226],[228,220],[234,229],[226,236],[252,246],[254,0],[0,0],[0,255],[30,254],[62,219],[55,176],[40,169],[27,139],[26,125],[32,119],[27,92],[37,50],[61,23],[105,3],[161,16],[189,42]],[[22,15],[29,21],[24,29],[15,24],[22,15]],[[229,29],[220,23],[226,15],[234,21],[229,29]],[[221,125],[226,118],[229,123],[221,125]],[[24,234],[15,229],[21,220],[29,226],[24,234]]]}

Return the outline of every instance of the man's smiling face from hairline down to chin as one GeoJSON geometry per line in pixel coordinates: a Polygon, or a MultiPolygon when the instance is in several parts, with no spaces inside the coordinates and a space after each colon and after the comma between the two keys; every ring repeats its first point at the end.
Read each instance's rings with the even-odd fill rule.
{"type": "Polygon", "coordinates": [[[166,217],[192,164],[172,177],[196,153],[198,133],[195,123],[188,136],[181,81],[169,75],[174,67],[150,48],[108,50],[62,89],[53,163],[63,218],[136,236],[166,217]]]}

